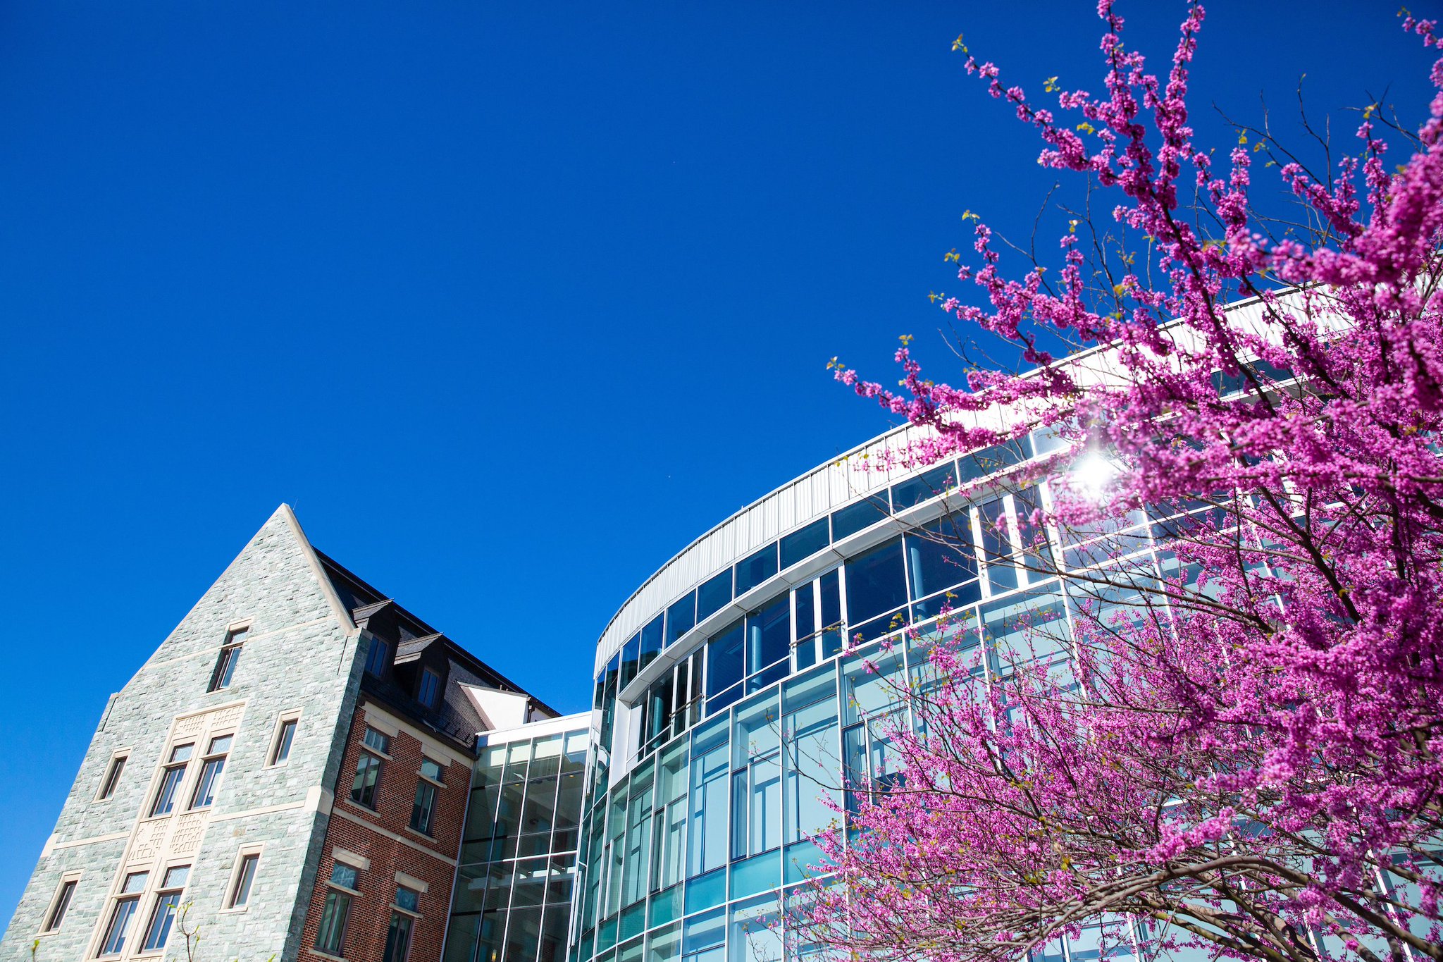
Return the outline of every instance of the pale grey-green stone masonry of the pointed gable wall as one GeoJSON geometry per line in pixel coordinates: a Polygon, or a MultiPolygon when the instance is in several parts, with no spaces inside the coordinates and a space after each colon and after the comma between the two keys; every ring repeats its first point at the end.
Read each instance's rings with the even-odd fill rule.
{"type": "MultiPolygon", "coordinates": [[[[113,886],[124,871],[149,868],[154,877],[169,864],[185,862],[192,867],[183,896],[192,903],[188,923],[202,933],[203,952],[198,958],[297,958],[307,909],[302,893],[313,890],[323,855],[328,818],[320,790],[336,783],[343,723],[354,711],[361,674],[356,632],[333,604],[322,577],[294,516],[281,506],[136,676],[111,697],[51,842],[0,939],[0,961],[29,958],[63,873],[82,874],[59,932],[39,939],[39,962],[76,962],[91,955],[113,886]],[[227,629],[241,620],[250,622],[250,632],[232,685],[206,692],[227,629]],[[185,858],[162,861],[146,855],[136,839],[153,826],[141,816],[153,798],[176,717],[235,702],[242,708],[225,775],[209,818],[196,819],[205,822],[203,837],[185,858]],[[300,712],[290,759],[266,767],[277,717],[289,711],[300,712]],[[94,800],[111,756],[123,749],[130,754],[114,796],[94,800]],[[261,845],[250,907],[222,912],[241,845],[261,845]],[[130,862],[123,864],[127,852],[130,862]]],[[[198,754],[202,749],[196,746],[198,754]]],[[[186,792],[196,766],[192,762],[186,792]]],[[[397,780],[403,779],[392,777],[392,783],[397,780]]],[[[433,886],[433,899],[436,893],[444,893],[439,896],[444,899],[449,881],[433,886]]],[[[141,901],[131,949],[139,948],[150,903],[150,896],[141,901]]],[[[427,914],[431,912],[443,919],[446,907],[427,914]]],[[[173,935],[166,958],[177,953],[183,958],[182,940],[173,935]]]]}

